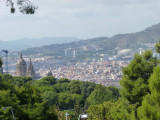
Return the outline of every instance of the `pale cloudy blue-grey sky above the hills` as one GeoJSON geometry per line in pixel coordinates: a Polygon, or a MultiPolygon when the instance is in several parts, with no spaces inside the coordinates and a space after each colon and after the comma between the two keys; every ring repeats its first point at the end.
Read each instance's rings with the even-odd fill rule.
{"type": "Polygon", "coordinates": [[[160,23],[160,0],[31,0],[34,15],[15,14],[0,1],[0,40],[111,37],[160,23]]]}

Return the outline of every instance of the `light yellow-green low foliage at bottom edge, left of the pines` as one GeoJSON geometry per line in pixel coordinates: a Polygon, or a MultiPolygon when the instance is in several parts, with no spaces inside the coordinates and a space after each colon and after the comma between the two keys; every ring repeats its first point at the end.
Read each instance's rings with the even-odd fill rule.
{"type": "Polygon", "coordinates": [[[91,105],[88,109],[89,120],[136,120],[136,105],[119,99],[99,105],[91,105]]]}

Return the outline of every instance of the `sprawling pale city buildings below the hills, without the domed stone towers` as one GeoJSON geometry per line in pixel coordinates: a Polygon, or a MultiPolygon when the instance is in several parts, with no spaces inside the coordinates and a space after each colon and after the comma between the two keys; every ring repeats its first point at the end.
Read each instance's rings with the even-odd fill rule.
{"type": "MultiPolygon", "coordinates": [[[[148,49],[154,49],[155,44],[145,45],[148,49]]],[[[85,51],[87,51],[87,47],[84,46],[84,48],[85,51]]],[[[142,54],[144,49],[139,48],[138,51],[132,49],[117,49],[118,48],[113,51],[114,55],[112,56],[99,54],[100,57],[92,61],[76,60],[78,52],[74,49],[64,50],[64,56],[70,59],[74,58],[74,61],[56,59],[54,56],[34,56],[31,60],[36,72],[36,79],[45,77],[48,69],[51,69],[53,76],[57,79],[68,78],[70,80],[89,81],[105,86],[120,87],[119,80],[121,80],[122,68],[128,65],[135,53],[142,54]]],[[[19,54],[20,51],[11,51],[9,53],[9,73],[12,75],[16,75],[16,63],[19,54]]],[[[5,56],[4,54],[2,55],[5,61],[5,56]]],[[[159,57],[159,54],[155,52],[153,56],[159,57]]],[[[29,57],[24,56],[24,59],[29,64],[29,57]]]]}

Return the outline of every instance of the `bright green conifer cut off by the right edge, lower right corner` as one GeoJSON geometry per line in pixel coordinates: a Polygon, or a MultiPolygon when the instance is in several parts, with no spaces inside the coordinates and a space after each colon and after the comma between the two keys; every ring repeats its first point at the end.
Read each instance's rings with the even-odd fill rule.
{"type": "Polygon", "coordinates": [[[149,79],[151,93],[146,95],[138,108],[140,120],[160,120],[160,66],[154,69],[149,79]]]}

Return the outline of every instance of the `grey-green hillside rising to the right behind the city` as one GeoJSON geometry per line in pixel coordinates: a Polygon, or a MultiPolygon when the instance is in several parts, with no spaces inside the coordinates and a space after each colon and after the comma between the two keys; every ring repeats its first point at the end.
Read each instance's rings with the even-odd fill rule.
{"type": "Polygon", "coordinates": [[[76,49],[79,55],[87,56],[96,53],[112,54],[112,50],[116,47],[125,49],[136,49],[138,45],[144,43],[155,43],[160,39],[160,23],[146,28],[143,31],[130,33],[130,34],[118,34],[113,37],[99,37],[88,40],[81,40],[71,42],[67,44],[52,44],[43,47],[31,48],[23,51],[25,54],[34,55],[52,55],[52,56],[64,56],[64,50],[67,48],[76,49]],[[84,47],[88,47],[88,50],[84,50],[84,47]]]}

